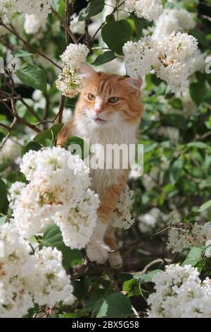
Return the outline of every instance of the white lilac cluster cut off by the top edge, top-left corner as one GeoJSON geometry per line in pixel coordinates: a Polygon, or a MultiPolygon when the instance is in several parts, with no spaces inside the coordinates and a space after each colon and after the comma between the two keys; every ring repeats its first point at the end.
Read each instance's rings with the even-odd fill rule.
{"type": "Polygon", "coordinates": [[[14,13],[39,14],[42,18],[51,13],[53,0],[0,0],[0,16],[11,18],[14,13]]]}

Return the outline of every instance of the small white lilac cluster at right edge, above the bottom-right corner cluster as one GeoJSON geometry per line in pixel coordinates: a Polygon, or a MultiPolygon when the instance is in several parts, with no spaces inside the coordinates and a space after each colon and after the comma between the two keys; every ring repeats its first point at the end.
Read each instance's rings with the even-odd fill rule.
{"type": "Polygon", "coordinates": [[[167,247],[172,251],[172,254],[181,252],[184,249],[190,247],[202,247],[207,246],[207,255],[209,256],[211,246],[211,223],[205,223],[199,225],[194,223],[193,225],[187,225],[180,229],[171,229],[169,232],[169,239],[167,247]]]}

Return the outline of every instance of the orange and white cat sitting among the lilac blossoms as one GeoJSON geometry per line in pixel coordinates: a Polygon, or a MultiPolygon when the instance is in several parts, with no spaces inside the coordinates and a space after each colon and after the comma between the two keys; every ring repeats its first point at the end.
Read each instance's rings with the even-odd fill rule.
{"type": "MultiPolygon", "coordinates": [[[[79,96],[75,113],[58,136],[57,145],[63,146],[69,136],[88,139],[90,145],[135,144],[136,131],[142,115],[140,101],[142,79],[134,80],[115,74],[97,73],[82,64],[84,87],[79,96]]],[[[102,158],[99,153],[98,158],[102,158]]],[[[117,249],[110,220],[127,181],[127,172],[120,167],[91,169],[92,189],[99,194],[98,221],[94,235],[87,245],[91,261],[104,263],[108,258],[113,267],[122,259],[117,249]],[[109,256],[109,257],[108,257],[109,256]]]]}

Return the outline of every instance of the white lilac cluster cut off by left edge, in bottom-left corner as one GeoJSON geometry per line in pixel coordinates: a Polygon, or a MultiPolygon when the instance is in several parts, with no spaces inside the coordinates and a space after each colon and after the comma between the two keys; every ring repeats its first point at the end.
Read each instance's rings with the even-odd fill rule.
{"type": "Polygon", "coordinates": [[[4,257],[0,258],[0,317],[22,317],[34,307],[25,287],[27,273],[33,268],[30,248],[9,223],[1,226],[0,239],[4,243],[4,257]]]}

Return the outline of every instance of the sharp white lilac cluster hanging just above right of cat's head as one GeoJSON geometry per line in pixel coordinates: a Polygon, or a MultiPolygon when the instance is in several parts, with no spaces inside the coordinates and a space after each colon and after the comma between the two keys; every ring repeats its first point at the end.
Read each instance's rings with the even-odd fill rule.
{"type": "Polygon", "coordinates": [[[173,32],[160,38],[143,37],[139,42],[124,45],[125,68],[132,78],[146,75],[153,68],[172,92],[181,92],[188,88],[191,75],[188,60],[197,47],[196,38],[187,33],[173,32]]]}

